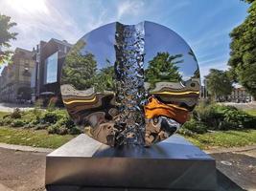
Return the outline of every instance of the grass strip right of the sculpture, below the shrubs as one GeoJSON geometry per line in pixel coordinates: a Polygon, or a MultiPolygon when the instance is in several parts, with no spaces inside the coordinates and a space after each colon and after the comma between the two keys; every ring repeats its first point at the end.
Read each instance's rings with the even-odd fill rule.
{"type": "Polygon", "coordinates": [[[217,131],[202,135],[186,137],[201,149],[208,149],[213,146],[239,147],[256,143],[256,130],[230,130],[217,131]]]}

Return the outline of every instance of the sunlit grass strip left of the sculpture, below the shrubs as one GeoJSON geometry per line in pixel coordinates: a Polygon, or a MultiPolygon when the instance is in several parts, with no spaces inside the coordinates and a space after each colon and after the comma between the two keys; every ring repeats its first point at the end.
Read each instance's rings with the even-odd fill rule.
{"type": "Polygon", "coordinates": [[[0,142],[43,148],[58,148],[70,139],[71,135],[50,135],[46,130],[0,127],[0,142]]]}

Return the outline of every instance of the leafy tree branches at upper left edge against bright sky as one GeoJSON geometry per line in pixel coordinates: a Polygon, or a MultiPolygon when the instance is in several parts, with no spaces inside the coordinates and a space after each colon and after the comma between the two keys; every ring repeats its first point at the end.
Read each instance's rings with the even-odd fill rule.
{"type": "Polygon", "coordinates": [[[11,17],[0,13],[0,66],[9,60],[11,51],[4,51],[11,47],[10,40],[15,40],[17,32],[10,32],[16,23],[11,22],[11,17]]]}

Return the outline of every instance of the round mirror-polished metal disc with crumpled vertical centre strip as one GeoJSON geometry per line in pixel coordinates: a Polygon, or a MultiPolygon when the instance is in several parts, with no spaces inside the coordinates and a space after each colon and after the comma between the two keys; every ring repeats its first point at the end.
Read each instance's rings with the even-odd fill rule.
{"type": "Polygon", "coordinates": [[[148,21],[85,34],[65,58],[61,95],[85,134],[105,144],[172,136],[198,102],[198,62],[172,30],[148,21]]]}

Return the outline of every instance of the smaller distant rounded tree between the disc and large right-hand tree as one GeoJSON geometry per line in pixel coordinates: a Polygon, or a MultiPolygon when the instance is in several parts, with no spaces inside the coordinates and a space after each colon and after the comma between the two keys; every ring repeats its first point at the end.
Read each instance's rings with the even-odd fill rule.
{"type": "Polygon", "coordinates": [[[232,92],[232,82],[228,77],[227,72],[217,69],[210,69],[210,74],[205,76],[206,86],[211,96],[215,100],[221,96],[228,96],[232,92]]]}

